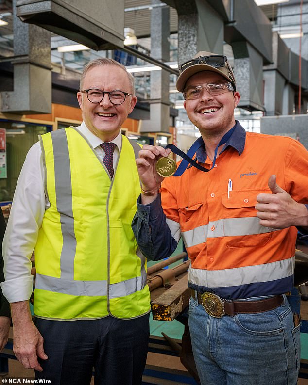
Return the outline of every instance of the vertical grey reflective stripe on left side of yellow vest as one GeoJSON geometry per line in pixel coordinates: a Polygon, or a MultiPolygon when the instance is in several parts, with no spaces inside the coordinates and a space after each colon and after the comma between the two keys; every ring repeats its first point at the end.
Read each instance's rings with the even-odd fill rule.
{"type": "Polygon", "coordinates": [[[61,251],[61,279],[74,279],[76,237],[71,191],[70,159],[65,129],[51,133],[54,157],[55,192],[60,214],[63,247],[61,251]]]}

